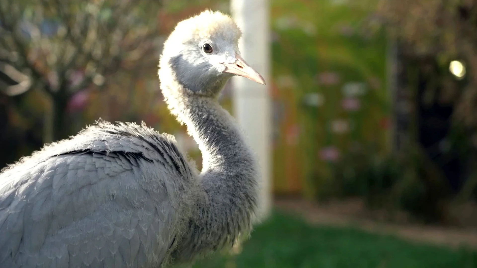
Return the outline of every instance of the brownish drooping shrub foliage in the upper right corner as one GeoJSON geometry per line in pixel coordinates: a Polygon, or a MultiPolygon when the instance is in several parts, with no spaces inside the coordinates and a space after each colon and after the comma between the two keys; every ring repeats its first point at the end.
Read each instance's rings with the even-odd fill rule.
{"type": "Polygon", "coordinates": [[[467,69],[463,89],[443,80],[443,92],[453,96],[456,121],[469,130],[477,144],[477,1],[399,0],[381,1],[378,14],[392,36],[405,44],[408,54],[432,55],[448,68],[461,60],[467,69]]]}

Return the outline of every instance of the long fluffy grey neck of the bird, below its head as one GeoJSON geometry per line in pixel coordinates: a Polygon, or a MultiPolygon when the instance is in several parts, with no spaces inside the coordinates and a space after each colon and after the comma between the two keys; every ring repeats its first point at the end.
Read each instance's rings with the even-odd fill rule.
{"type": "MultiPolygon", "coordinates": [[[[167,90],[170,93],[172,88],[167,90]]],[[[184,92],[183,88],[175,90],[184,92]]],[[[240,235],[248,233],[256,208],[258,169],[239,127],[216,100],[181,95],[181,99],[165,96],[171,111],[199,144],[203,156],[199,179],[205,193],[179,242],[180,254],[174,254],[179,260],[187,260],[231,246],[240,235]]]]}

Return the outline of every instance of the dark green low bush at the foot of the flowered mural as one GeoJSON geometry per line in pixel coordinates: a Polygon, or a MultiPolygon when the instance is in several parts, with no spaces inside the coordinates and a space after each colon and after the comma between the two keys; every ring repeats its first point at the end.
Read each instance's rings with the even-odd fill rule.
{"type": "Polygon", "coordinates": [[[405,155],[373,154],[367,148],[346,155],[333,167],[321,196],[364,198],[371,209],[399,209],[425,222],[442,221],[450,196],[442,171],[413,145],[405,155]]]}

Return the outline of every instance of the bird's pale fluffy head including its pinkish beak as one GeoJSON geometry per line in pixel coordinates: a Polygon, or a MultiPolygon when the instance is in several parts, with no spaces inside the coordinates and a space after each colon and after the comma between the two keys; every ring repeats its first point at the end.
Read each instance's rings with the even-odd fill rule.
{"type": "Polygon", "coordinates": [[[265,84],[239,54],[241,34],[229,16],[204,11],[177,24],[164,43],[159,67],[170,68],[187,91],[204,96],[217,95],[233,75],[265,84]]]}

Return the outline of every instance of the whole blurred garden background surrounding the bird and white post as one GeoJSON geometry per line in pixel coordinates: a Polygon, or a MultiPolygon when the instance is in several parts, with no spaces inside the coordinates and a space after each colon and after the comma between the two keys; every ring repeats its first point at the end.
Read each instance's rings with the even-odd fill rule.
{"type": "MultiPolygon", "coordinates": [[[[257,2],[273,206],[193,267],[477,267],[477,1],[257,2]]],[[[0,0],[0,167],[102,118],[174,134],[200,168],[157,60],[178,21],[230,6],[0,0]]]]}

